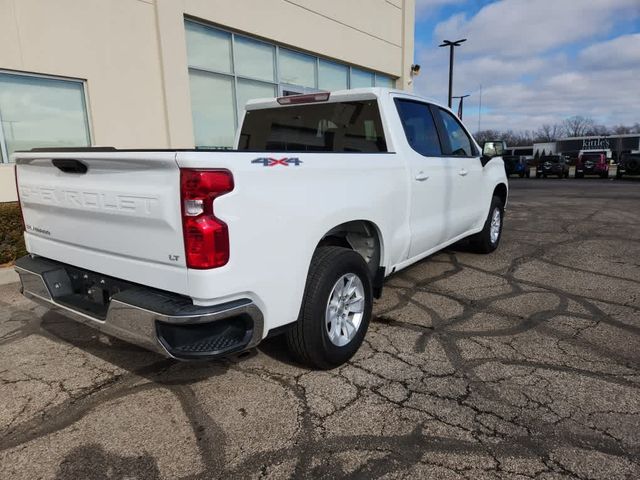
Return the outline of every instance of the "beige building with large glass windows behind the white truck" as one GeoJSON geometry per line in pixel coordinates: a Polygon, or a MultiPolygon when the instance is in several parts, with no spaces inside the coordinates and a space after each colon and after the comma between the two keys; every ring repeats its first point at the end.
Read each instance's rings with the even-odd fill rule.
{"type": "Polygon", "coordinates": [[[2,0],[0,202],[33,147],[230,148],[248,99],[408,88],[415,0],[2,0]]]}

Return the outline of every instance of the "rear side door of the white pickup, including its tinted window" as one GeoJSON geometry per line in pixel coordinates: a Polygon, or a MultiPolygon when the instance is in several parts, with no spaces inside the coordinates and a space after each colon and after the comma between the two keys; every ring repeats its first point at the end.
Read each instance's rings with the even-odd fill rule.
{"type": "Polygon", "coordinates": [[[411,175],[409,258],[413,258],[444,241],[452,185],[429,104],[405,98],[396,98],[395,103],[410,147],[406,150],[411,175]]]}

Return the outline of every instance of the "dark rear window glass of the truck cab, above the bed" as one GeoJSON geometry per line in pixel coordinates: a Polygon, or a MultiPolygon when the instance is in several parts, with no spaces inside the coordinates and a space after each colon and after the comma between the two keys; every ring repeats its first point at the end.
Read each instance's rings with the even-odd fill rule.
{"type": "Polygon", "coordinates": [[[386,152],[378,103],[334,102],[250,110],[239,150],[386,152]]]}

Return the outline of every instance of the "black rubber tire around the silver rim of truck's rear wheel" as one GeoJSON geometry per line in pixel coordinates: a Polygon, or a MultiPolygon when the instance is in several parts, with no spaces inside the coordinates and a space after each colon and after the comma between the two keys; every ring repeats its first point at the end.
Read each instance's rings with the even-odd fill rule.
{"type": "Polygon", "coordinates": [[[343,247],[320,247],[311,259],[300,316],[287,331],[287,345],[293,357],[309,367],[328,370],[347,362],[360,348],[371,320],[373,291],[371,274],[364,258],[343,247]],[[326,328],[327,302],[336,282],[355,274],[364,287],[364,315],[355,336],[344,346],[332,343],[326,328]]]}

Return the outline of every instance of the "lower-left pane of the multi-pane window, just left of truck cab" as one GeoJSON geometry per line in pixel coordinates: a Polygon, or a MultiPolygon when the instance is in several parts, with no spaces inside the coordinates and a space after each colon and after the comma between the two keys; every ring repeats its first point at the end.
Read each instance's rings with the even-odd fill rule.
{"type": "Polygon", "coordinates": [[[189,72],[189,81],[196,146],[232,146],[236,127],[233,78],[192,70],[189,72]]]}

